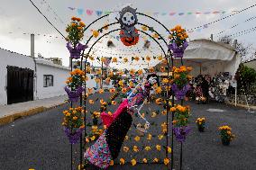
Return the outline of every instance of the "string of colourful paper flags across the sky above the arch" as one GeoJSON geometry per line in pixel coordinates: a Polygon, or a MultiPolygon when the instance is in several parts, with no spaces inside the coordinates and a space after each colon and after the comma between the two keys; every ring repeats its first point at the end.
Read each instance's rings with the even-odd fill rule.
{"type": "MultiPolygon", "coordinates": [[[[111,11],[104,11],[104,10],[92,10],[92,9],[83,9],[81,7],[68,7],[69,10],[71,11],[77,11],[78,15],[87,15],[87,16],[93,16],[96,15],[98,17],[113,13],[111,11]]],[[[233,11],[207,11],[207,12],[146,12],[146,14],[151,15],[151,16],[182,16],[182,15],[191,15],[191,14],[226,14],[226,13],[238,13],[239,11],[233,10],[233,11]]]]}

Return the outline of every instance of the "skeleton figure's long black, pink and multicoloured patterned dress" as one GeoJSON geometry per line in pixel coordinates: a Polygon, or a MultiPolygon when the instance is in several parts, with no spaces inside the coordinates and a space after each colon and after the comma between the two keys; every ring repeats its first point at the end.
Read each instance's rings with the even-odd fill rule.
{"type": "Polygon", "coordinates": [[[129,108],[143,103],[148,90],[139,88],[133,97],[125,99],[112,116],[101,113],[101,119],[107,129],[96,140],[96,143],[85,152],[86,161],[98,168],[105,169],[111,160],[118,157],[123,140],[132,125],[132,115],[129,108]]]}

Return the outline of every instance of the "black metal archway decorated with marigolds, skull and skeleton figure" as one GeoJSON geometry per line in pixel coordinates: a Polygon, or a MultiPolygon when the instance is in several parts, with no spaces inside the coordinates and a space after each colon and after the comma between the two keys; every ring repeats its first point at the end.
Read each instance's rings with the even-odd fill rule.
{"type": "MultiPolygon", "coordinates": [[[[189,88],[187,86],[187,82],[189,80],[189,76],[187,76],[187,74],[191,69],[184,66],[178,68],[174,67],[173,56],[176,58],[181,58],[181,64],[183,65],[182,57],[184,50],[187,48],[187,33],[180,26],[177,26],[176,28],[169,31],[162,23],[152,18],[151,16],[143,13],[136,13],[136,9],[127,6],[121,10],[119,18],[116,18],[117,22],[106,24],[97,31],[93,31],[86,44],[81,44],[79,40],[82,39],[84,32],[87,31],[92,24],[100,21],[106,16],[108,16],[108,14],[96,19],[96,21],[90,23],[86,28],[85,24],[81,22],[79,18],[74,17],[72,18],[72,22],[67,28],[67,31],[69,32],[69,36],[67,38],[69,41],[67,48],[70,52],[71,73],[65,90],[69,94],[69,102],[71,108],[69,111],[64,112],[65,116],[63,125],[66,127],[65,131],[71,144],[71,169],[73,169],[72,145],[78,143],[78,140],[80,142],[80,169],[86,167],[88,164],[100,168],[106,168],[108,166],[114,165],[114,159],[118,157],[120,151],[123,150],[123,152],[128,152],[129,148],[131,148],[123,147],[123,140],[127,138],[129,139],[129,137],[127,137],[127,132],[133,125],[133,114],[141,117],[142,121],[145,122],[144,125],[141,123],[134,125],[136,130],[140,133],[140,135],[134,136],[134,140],[140,141],[142,137],[151,140],[152,135],[145,134],[148,132],[151,124],[153,123],[147,121],[145,114],[141,113],[142,106],[151,101],[157,103],[158,105],[162,105],[164,108],[161,114],[165,117],[165,122],[160,125],[162,134],[158,136],[158,139],[161,140],[165,137],[165,145],[162,147],[164,149],[161,149],[160,145],[156,145],[155,148],[158,151],[164,150],[165,156],[162,158],[153,157],[151,160],[143,158],[141,163],[164,164],[168,168],[172,169],[174,160],[173,137],[175,134],[176,138],[181,143],[181,169],[182,143],[184,142],[185,137],[189,131],[187,128],[189,108],[182,105],[185,94],[189,88]],[[168,43],[167,40],[165,40],[160,35],[160,33],[155,31],[152,27],[148,26],[147,24],[138,22],[137,14],[149,17],[151,20],[158,22],[166,31],[168,31],[170,42],[168,43]],[[90,40],[97,38],[103,29],[108,30],[108,27],[115,24],[120,24],[121,28],[105,32],[90,47],[88,47],[90,40]],[[135,25],[142,25],[142,30],[136,29],[135,25]],[[158,39],[151,36],[151,34],[147,32],[148,30],[154,32],[156,35],[155,37],[158,37],[158,39]],[[89,100],[89,94],[92,93],[92,89],[87,88],[87,72],[89,72],[90,67],[87,65],[83,67],[82,63],[85,62],[87,64],[87,59],[92,58],[90,56],[90,52],[99,40],[115,31],[119,31],[120,40],[124,46],[136,45],[139,41],[139,34],[141,33],[150,37],[151,40],[154,40],[154,42],[158,44],[162,53],[164,54],[163,60],[162,58],[159,60],[162,60],[162,62],[166,64],[166,67],[162,67],[161,71],[167,71],[167,78],[163,78],[160,84],[159,77],[156,73],[154,73],[153,68],[150,68],[148,73],[143,73],[143,70],[135,71],[131,69],[130,76],[127,76],[127,74],[124,74],[122,71],[121,73],[119,72],[116,75],[120,76],[119,78],[123,78],[123,80],[119,79],[119,82],[115,85],[115,87],[108,89],[112,94],[110,101],[101,99],[100,110],[97,112],[91,112],[92,119],[90,119],[87,112],[87,108],[89,107],[88,104],[95,103],[95,101],[89,100]],[[165,47],[160,45],[159,40],[164,42],[165,47]],[[86,53],[85,50],[87,48],[89,49],[86,53]],[[72,59],[79,58],[80,69],[72,70],[72,59]],[[130,81],[129,83],[125,82],[125,78],[127,80],[129,77],[130,79],[133,78],[135,80],[130,81]],[[107,110],[107,106],[116,105],[115,99],[120,97],[121,92],[121,96],[124,99],[120,101],[120,105],[117,110],[114,113],[105,112],[107,110]],[[153,98],[153,100],[151,98],[152,93],[155,94],[155,98],[153,98]],[[181,101],[180,104],[175,105],[175,96],[179,101],[181,101]],[[79,103],[78,107],[73,108],[74,103],[79,103]],[[171,116],[169,116],[169,112],[171,112],[171,116]],[[99,117],[103,122],[102,129],[99,129],[99,117]],[[89,123],[88,121],[92,121],[92,123],[89,123]],[[87,127],[90,127],[91,131],[87,130],[87,127]],[[169,132],[169,129],[171,133],[169,132]],[[84,134],[82,133],[83,131],[84,134]],[[83,161],[84,158],[86,161],[83,161]]],[[[109,63],[116,62],[117,58],[98,58],[98,60],[102,62],[102,65],[104,63],[105,66],[108,67],[109,63]]],[[[147,58],[147,60],[150,59],[147,58]]],[[[96,78],[96,81],[100,82],[101,85],[97,93],[103,94],[105,92],[102,86],[104,77],[103,70],[99,69],[98,73],[101,76],[100,79],[96,78]]],[[[111,76],[108,76],[105,79],[110,82],[111,76]]],[[[158,111],[158,113],[160,112],[158,111]]],[[[158,113],[155,112],[155,115],[158,113]]],[[[133,151],[136,155],[140,149],[148,151],[151,150],[151,148],[153,147],[142,146],[142,148],[138,148],[137,146],[133,146],[133,151]]],[[[125,161],[123,158],[120,158],[119,163],[116,161],[115,163],[123,165],[125,161]]],[[[133,158],[131,160],[131,164],[135,166],[137,164],[136,159],[133,158]]]]}

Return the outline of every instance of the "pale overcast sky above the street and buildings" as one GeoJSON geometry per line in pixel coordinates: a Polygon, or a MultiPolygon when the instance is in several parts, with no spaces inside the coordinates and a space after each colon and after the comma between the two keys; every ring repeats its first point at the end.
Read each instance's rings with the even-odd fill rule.
{"type": "MultiPolygon", "coordinates": [[[[120,9],[120,6],[125,4],[133,4],[133,7],[137,8],[138,12],[141,13],[187,13],[187,12],[215,12],[215,11],[226,11],[224,14],[184,14],[184,15],[169,15],[166,14],[156,15],[156,17],[163,22],[168,28],[181,24],[186,29],[191,29],[199,25],[204,25],[207,22],[213,22],[220,19],[232,11],[241,10],[252,4],[256,4],[256,1],[252,0],[137,0],[137,1],[117,1],[117,0],[33,0],[33,2],[41,9],[58,29],[64,35],[66,35],[65,27],[69,22],[71,16],[79,16],[82,20],[88,24],[94,21],[97,16],[92,14],[88,16],[83,13],[78,15],[77,10],[70,10],[68,7],[81,8],[84,10],[90,9],[93,11],[113,11],[120,9]],[[45,2],[47,4],[45,4],[45,2]],[[48,4],[50,4],[51,9],[48,4]],[[57,15],[55,14],[57,13],[57,15]],[[60,19],[59,19],[60,18],[60,19]]],[[[0,0],[0,47],[3,49],[13,50],[15,52],[23,53],[26,55],[30,54],[30,35],[23,33],[36,33],[35,36],[35,52],[41,53],[45,58],[58,57],[63,59],[64,65],[68,66],[69,63],[69,51],[65,47],[65,40],[55,37],[60,37],[59,33],[55,31],[48,22],[41,16],[40,13],[32,6],[29,0],[0,0]],[[13,33],[10,33],[13,32],[13,33]],[[37,35],[37,34],[40,35],[37,35]],[[47,36],[43,36],[46,34],[47,36]],[[50,37],[51,36],[51,37],[50,37]],[[53,38],[54,37],[54,38],[53,38]]],[[[247,19],[256,16],[256,7],[250,10],[239,13],[230,17],[224,21],[216,22],[211,24],[208,28],[201,31],[194,31],[189,34],[190,40],[209,38],[211,33],[216,34],[219,31],[225,31],[225,34],[233,34],[239,31],[248,30],[255,27],[255,20],[251,22],[244,22],[247,19]],[[233,29],[232,26],[238,24],[233,29]]],[[[111,20],[111,19],[109,19],[111,20]]],[[[160,31],[163,35],[166,32],[160,28],[155,22],[151,22],[143,17],[139,18],[140,22],[146,22],[153,26],[154,29],[160,31]]],[[[91,29],[96,29],[99,26],[103,26],[107,22],[97,22],[91,29]]],[[[87,31],[85,40],[91,32],[87,31]]],[[[118,34],[112,34],[118,35],[118,34]]],[[[215,37],[214,37],[215,38],[215,37]]],[[[216,39],[216,38],[215,38],[216,39]]],[[[252,49],[256,49],[256,35],[255,31],[249,34],[242,35],[236,38],[238,41],[247,44],[252,43],[252,49]]],[[[109,40],[106,38],[103,43],[99,43],[96,46],[99,54],[95,52],[95,55],[104,53],[102,47],[105,46],[105,41],[109,40]]],[[[141,54],[136,52],[128,52],[127,48],[123,48],[120,41],[114,40],[116,49],[105,50],[105,56],[109,56],[109,53],[120,53],[128,56],[131,55],[150,55],[160,53],[160,50],[156,48],[156,45],[152,43],[151,51],[145,51],[141,54]],[[155,49],[154,49],[155,47],[155,49]],[[120,51],[122,50],[122,51],[120,51]],[[124,52],[123,52],[124,50],[124,52]]],[[[134,49],[142,47],[143,43],[138,44],[134,49]]],[[[130,50],[130,49],[129,49],[130,50]]],[[[131,49],[133,50],[133,48],[131,49]]],[[[111,56],[111,55],[110,55],[111,56]]]]}

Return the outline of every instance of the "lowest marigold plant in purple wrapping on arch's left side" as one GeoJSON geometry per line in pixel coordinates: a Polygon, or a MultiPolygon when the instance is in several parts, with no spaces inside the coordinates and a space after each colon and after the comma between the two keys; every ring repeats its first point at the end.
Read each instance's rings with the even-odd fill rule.
{"type": "Polygon", "coordinates": [[[85,129],[84,110],[82,107],[69,108],[69,111],[64,111],[63,114],[62,125],[65,127],[65,133],[69,138],[69,143],[76,144],[82,131],[85,129]]]}

